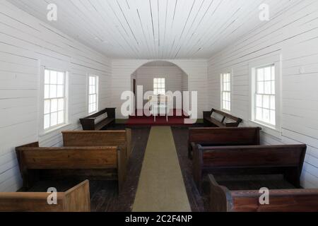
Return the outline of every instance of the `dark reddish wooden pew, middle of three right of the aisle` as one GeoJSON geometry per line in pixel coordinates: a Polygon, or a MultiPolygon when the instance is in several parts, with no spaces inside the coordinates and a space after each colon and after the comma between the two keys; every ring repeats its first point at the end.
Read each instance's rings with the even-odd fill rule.
{"type": "Polygon", "coordinates": [[[207,174],[283,174],[300,188],[306,145],[203,147],[194,145],[194,182],[202,191],[207,174]]]}

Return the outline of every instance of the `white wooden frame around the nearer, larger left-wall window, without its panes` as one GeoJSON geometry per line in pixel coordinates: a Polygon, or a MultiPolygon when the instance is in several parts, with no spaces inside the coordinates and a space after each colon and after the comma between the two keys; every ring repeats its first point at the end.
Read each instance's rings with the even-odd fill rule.
{"type": "MultiPolygon", "coordinates": [[[[40,62],[39,62],[40,64],[40,62]]],[[[40,101],[39,101],[39,136],[44,136],[47,133],[51,133],[53,131],[57,131],[58,129],[63,128],[64,126],[69,125],[69,71],[66,71],[64,69],[57,69],[53,67],[46,67],[46,66],[40,66],[40,101]],[[45,100],[48,100],[50,98],[45,98],[45,71],[57,71],[64,73],[64,123],[63,124],[57,124],[55,126],[50,126],[49,128],[45,129],[45,100]]],[[[55,98],[51,98],[55,99],[55,98]]],[[[59,99],[59,98],[57,98],[59,99]]]]}

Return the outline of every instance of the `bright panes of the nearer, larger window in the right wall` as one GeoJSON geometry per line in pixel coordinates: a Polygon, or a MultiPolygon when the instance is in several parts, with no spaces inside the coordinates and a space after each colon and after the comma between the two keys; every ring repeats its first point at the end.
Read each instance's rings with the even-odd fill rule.
{"type": "Polygon", "coordinates": [[[276,126],[275,66],[255,69],[254,120],[276,126]]]}

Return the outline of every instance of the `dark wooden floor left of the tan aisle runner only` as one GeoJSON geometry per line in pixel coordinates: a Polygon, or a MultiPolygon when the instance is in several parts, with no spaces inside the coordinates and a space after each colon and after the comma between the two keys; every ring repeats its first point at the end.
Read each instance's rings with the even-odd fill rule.
{"type": "MultiPolygon", "coordinates": [[[[112,129],[124,129],[124,125],[117,125],[112,129]]],[[[132,153],[129,160],[128,173],[124,182],[124,189],[120,195],[117,192],[115,181],[92,181],[90,180],[90,208],[93,212],[130,212],[134,204],[139,175],[146,150],[150,127],[137,127],[131,131],[132,153]]],[[[59,192],[66,191],[79,181],[38,182],[29,191],[47,191],[54,187],[59,192]]]]}

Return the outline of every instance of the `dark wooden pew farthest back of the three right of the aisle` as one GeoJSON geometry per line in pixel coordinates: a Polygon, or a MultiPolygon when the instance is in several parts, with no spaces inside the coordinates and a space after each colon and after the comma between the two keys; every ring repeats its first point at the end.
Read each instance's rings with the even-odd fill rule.
{"type": "Polygon", "coordinates": [[[192,144],[201,146],[259,145],[260,127],[190,128],[188,155],[192,158],[192,144]]]}

